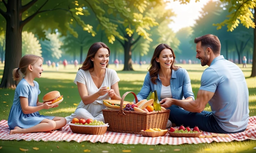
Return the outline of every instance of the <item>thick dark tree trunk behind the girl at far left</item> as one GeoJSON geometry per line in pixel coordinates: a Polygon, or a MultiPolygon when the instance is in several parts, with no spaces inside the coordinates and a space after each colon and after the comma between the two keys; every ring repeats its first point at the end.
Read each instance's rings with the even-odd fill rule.
{"type": "Polygon", "coordinates": [[[19,66],[22,56],[22,28],[20,28],[21,13],[19,8],[20,0],[10,0],[7,4],[6,20],[6,48],[5,48],[5,63],[4,72],[0,87],[16,88],[17,82],[13,81],[12,70],[19,66]],[[13,45],[15,44],[15,45],[13,45]],[[8,59],[8,60],[6,60],[8,59]]]}

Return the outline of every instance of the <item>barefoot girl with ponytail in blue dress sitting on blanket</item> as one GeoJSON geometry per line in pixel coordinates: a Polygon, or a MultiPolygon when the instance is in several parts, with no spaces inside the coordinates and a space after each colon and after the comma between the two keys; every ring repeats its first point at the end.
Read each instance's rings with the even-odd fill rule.
{"type": "Polygon", "coordinates": [[[24,78],[20,80],[15,90],[13,105],[8,118],[10,134],[52,133],[66,125],[66,120],[63,117],[44,116],[38,112],[42,109],[58,107],[51,102],[40,103],[38,101],[39,84],[34,79],[40,78],[42,72],[43,58],[36,55],[25,55],[20,60],[19,67],[13,70],[13,80],[20,80],[21,74],[24,75],[24,78]]]}

